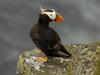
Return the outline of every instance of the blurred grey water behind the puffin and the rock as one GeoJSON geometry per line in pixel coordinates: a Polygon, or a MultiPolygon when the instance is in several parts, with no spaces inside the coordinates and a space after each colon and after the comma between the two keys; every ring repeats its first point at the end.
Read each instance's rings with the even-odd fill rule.
{"type": "Polygon", "coordinates": [[[63,44],[100,40],[100,0],[0,0],[0,75],[16,75],[19,54],[35,48],[29,32],[40,6],[64,16],[64,23],[51,23],[63,44]]]}

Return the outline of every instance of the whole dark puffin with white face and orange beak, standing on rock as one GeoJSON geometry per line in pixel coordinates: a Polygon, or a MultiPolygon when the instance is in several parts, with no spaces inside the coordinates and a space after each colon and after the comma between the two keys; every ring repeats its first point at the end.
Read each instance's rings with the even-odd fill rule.
{"type": "Polygon", "coordinates": [[[63,20],[63,16],[54,9],[40,7],[39,19],[30,31],[30,37],[47,57],[71,57],[61,43],[58,33],[49,26],[50,22],[61,23],[63,20]]]}

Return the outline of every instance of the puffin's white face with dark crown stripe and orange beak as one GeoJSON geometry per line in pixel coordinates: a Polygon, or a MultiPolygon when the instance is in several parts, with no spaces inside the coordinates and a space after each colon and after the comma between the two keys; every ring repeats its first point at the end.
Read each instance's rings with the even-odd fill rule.
{"type": "Polygon", "coordinates": [[[51,21],[55,21],[57,23],[63,22],[64,20],[63,17],[59,13],[57,13],[55,10],[43,9],[42,7],[40,7],[40,9],[41,9],[40,14],[48,16],[51,21]]]}

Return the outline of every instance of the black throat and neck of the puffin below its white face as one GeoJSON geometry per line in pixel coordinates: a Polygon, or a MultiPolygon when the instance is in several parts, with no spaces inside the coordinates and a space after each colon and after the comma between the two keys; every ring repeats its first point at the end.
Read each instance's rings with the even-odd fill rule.
{"type": "Polygon", "coordinates": [[[47,15],[41,15],[38,20],[38,24],[43,27],[49,27],[50,19],[47,15]]]}

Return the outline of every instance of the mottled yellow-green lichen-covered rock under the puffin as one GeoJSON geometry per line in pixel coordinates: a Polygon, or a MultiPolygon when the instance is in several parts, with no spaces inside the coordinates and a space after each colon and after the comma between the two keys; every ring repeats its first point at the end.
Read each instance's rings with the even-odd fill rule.
{"type": "Polygon", "coordinates": [[[39,49],[22,53],[17,75],[100,75],[100,43],[65,47],[72,58],[47,58],[39,49]]]}

